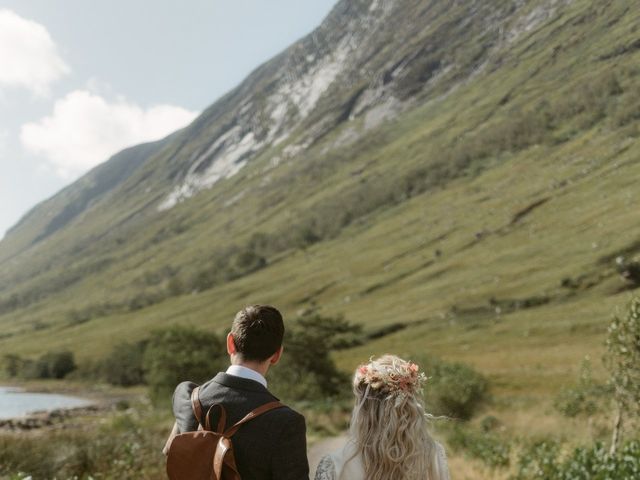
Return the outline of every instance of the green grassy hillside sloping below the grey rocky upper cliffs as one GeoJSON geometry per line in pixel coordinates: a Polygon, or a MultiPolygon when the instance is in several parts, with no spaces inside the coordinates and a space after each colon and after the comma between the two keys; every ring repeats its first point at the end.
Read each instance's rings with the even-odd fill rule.
{"type": "Polygon", "coordinates": [[[615,259],[640,255],[640,13],[576,0],[534,22],[542,5],[446,93],[374,129],[341,123],[275,166],[285,142],[162,214],[128,180],[100,215],[3,263],[5,306],[42,294],[4,309],[0,349],[95,359],[156,327],[222,331],[248,303],[289,318],[316,305],[396,325],[337,352],[345,370],[433,353],[486,374],[486,408],[515,435],[588,434],[551,404],[585,356],[603,375],[606,324],[633,293],[615,259]]]}

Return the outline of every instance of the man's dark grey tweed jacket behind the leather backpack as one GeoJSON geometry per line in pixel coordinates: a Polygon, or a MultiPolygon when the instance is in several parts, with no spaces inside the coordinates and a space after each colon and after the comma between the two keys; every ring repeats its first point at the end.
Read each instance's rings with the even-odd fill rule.
{"type": "MultiPolygon", "coordinates": [[[[196,386],[183,382],[173,394],[173,413],[180,433],[198,429],[191,408],[191,392],[196,386]]],[[[222,372],[200,387],[199,397],[205,414],[215,403],[224,405],[226,428],[260,405],[277,400],[260,383],[222,372]]],[[[219,417],[219,409],[214,410],[213,426],[219,417]]],[[[243,480],[309,479],[304,417],[289,407],[271,410],[247,422],[231,441],[243,480]]]]}

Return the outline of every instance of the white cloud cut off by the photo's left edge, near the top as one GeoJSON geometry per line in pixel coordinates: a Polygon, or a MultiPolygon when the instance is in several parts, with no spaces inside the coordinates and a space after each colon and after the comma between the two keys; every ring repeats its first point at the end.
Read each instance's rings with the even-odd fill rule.
{"type": "Polygon", "coordinates": [[[41,96],[70,71],[43,25],[7,9],[0,9],[0,66],[0,87],[23,87],[41,96]]]}

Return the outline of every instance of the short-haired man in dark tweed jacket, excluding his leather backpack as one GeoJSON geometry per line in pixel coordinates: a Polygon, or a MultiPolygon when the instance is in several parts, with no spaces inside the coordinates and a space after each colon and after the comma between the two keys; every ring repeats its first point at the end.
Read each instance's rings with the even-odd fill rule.
{"type": "MultiPolygon", "coordinates": [[[[268,305],[240,310],[227,335],[231,366],[200,387],[203,412],[223,404],[229,428],[265,403],[278,400],[267,390],[265,376],[282,355],[282,315],[268,305]]],[[[176,433],[198,429],[191,407],[191,392],[197,385],[183,382],[173,395],[176,433]]],[[[211,424],[218,421],[212,412],[211,424]]],[[[240,476],[248,480],[308,480],[304,417],[289,407],[271,410],[242,425],[232,437],[240,476]]],[[[166,447],[165,447],[166,449],[166,447]]]]}

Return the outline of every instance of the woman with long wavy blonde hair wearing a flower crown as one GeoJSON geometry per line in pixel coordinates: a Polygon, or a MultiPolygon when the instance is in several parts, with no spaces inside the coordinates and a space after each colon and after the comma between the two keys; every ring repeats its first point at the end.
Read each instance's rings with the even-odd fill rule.
{"type": "Polygon", "coordinates": [[[384,355],[358,367],[346,445],[322,458],[315,480],[448,480],[442,445],[427,430],[415,363],[384,355]]]}

